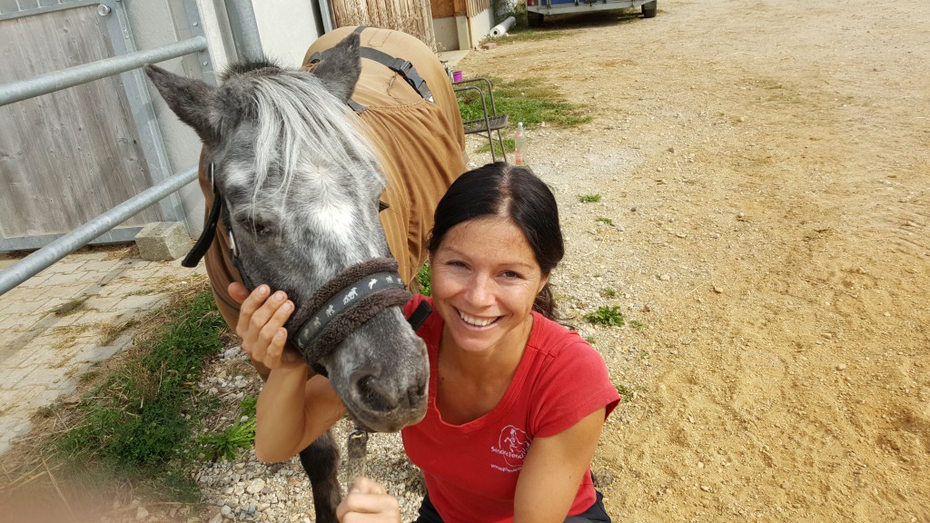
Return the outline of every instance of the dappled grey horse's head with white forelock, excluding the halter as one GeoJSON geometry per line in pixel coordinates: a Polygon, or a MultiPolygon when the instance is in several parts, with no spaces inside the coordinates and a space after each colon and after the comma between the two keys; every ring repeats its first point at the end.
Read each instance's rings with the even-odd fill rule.
{"type": "MultiPolygon", "coordinates": [[[[391,252],[379,221],[385,179],[347,105],[361,73],[357,34],[311,73],[237,64],[212,87],[151,65],[145,70],[204,143],[246,286],[285,290],[297,305],[286,324],[289,340],[305,337],[305,326],[338,311],[373,279],[392,279],[379,263],[358,269],[391,252]],[[333,284],[352,272],[357,280],[333,284]],[[321,298],[318,291],[327,288],[321,298]]],[[[375,431],[399,430],[426,411],[426,348],[398,303],[375,307],[360,325],[349,322],[349,331],[330,329],[332,350],[311,356],[300,347],[356,420],[375,431]]]]}

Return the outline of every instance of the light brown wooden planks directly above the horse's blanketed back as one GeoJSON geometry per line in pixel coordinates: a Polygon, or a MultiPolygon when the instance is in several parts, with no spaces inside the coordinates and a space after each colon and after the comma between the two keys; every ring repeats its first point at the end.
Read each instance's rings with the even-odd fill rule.
{"type": "Polygon", "coordinates": [[[332,0],[336,27],[368,25],[403,31],[436,50],[429,0],[332,0]]]}

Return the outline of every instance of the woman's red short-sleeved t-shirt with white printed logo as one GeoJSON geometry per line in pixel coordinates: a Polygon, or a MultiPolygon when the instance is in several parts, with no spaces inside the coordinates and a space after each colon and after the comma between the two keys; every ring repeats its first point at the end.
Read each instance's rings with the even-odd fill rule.
{"type": "MultiPolygon", "coordinates": [[[[432,305],[417,296],[405,314],[424,299],[432,305]]],[[[430,500],[446,523],[512,521],[517,476],[533,438],[559,434],[602,407],[610,414],[620,396],[588,342],[534,312],[523,359],[498,406],[472,422],[446,423],[436,409],[442,332],[437,314],[418,331],[430,355],[430,396],[423,421],[401,432],[404,449],[423,471],[430,500]]],[[[567,516],[584,512],[594,500],[586,473],[567,516]]]]}

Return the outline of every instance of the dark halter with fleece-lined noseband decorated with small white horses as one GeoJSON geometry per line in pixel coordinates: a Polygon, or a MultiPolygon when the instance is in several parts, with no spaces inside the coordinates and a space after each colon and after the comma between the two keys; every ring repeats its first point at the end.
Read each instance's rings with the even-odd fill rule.
{"type": "MultiPolygon", "coordinates": [[[[204,230],[181,265],[193,268],[204,258],[216,237],[221,214],[229,237],[230,260],[243,284],[251,291],[256,286],[246,274],[239,257],[229,209],[223,205],[222,194],[214,180],[213,163],[210,163],[210,185],[213,188],[213,205],[204,223],[204,230]]],[[[385,208],[388,208],[388,204],[379,202],[379,211],[385,208]]],[[[291,332],[289,343],[303,355],[307,365],[317,373],[326,375],[326,369],[319,365],[321,358],[331,353],[354,329],[388,307],[404,305],[410,297],[397,272],[397,262],[392,258],[373,258],[356,263],[326,282],[313,293],[307,306],[295,312],[292,321],[299,328],[296,333],[291,332]]],[[[408,318],[414,330],[419,329],[429,315],[430,311],[421,309],[419,307],[408,318]]]]}

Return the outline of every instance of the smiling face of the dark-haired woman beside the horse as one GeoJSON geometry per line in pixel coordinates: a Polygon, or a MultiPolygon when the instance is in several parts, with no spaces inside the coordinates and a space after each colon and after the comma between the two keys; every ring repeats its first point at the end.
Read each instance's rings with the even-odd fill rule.
{"type": "Polygon", "coordinates": [[[485,217],[459,223],[445,234],[431,264],[444,342],[468,352],[524,342],[529,313],[548,276],[512,221],[485,217]]]}

